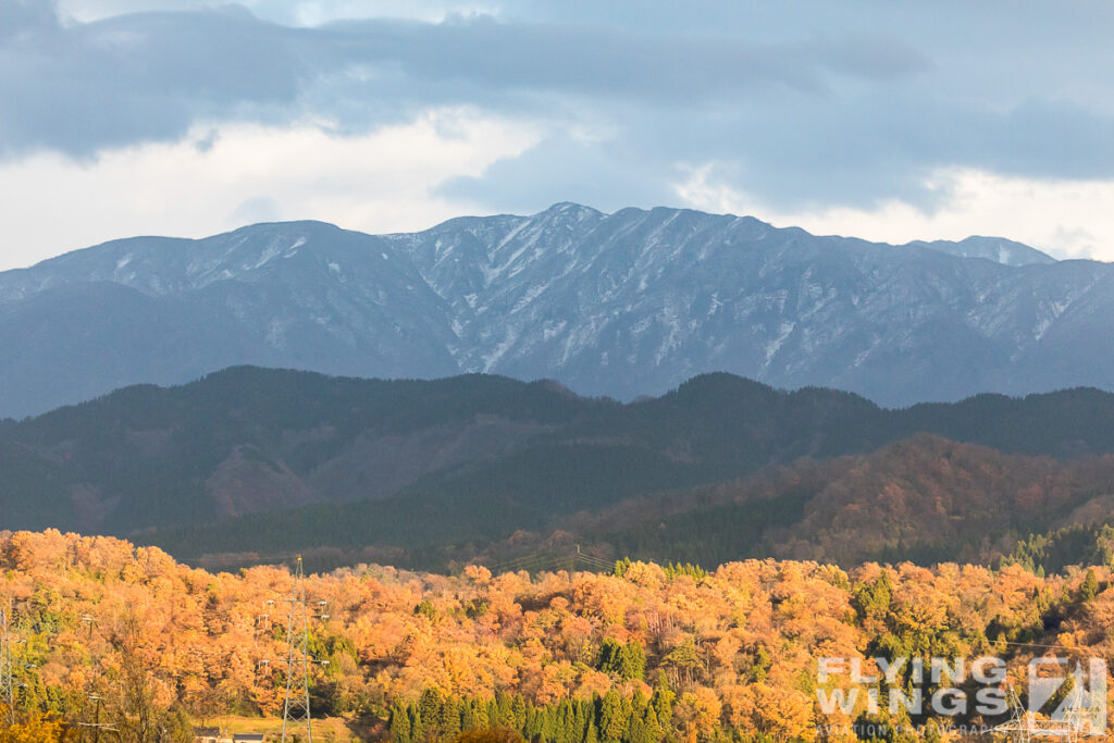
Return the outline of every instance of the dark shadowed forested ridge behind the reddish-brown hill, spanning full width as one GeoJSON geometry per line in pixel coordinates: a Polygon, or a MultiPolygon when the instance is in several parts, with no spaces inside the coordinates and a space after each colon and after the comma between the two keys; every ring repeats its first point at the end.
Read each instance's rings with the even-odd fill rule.
{"type": "Polygon", "coordinates": [[[490,375],[382,381],[234,368],[4,422],[0,517],[9,528],[137,535],[379,500],[397,519],[393,531],[367,534],[369,544],[490,539],[919,432],[1006,453],[1114,452],[1114,395],[1078,389],[886,410],[717,373],[620,404],[490,375]],[[494,509],[482,529],[458,518],[481,502],[494,509]]]}

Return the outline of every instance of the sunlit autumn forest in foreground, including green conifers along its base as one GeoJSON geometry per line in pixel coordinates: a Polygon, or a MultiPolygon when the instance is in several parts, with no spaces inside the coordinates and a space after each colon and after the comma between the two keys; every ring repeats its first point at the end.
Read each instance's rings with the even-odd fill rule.
{"type": "MultiPolygon", "coordinates": [[[[284,669],[270,661],[286,647],[287,566],[208,573],[57,530],[4,532],[0,564],[19,721],[0,741],[78,740],[95,717],[119,740],[192,740],[190,725],[221,715],[280,714],[284,669]]],[[[1044,576],[1018,563],[359,565],[305,579],[309,603],[328,607],[309,629],[328,661],[311,705],[353,721],[332,740],[854,740],[864,721],[889,740],[944,740],[956,720],[825,714],[817,659],[993,654],[1019,680],[1045,646],[1108,657],[1110,580],[1103,567],[1044,576]]]]}

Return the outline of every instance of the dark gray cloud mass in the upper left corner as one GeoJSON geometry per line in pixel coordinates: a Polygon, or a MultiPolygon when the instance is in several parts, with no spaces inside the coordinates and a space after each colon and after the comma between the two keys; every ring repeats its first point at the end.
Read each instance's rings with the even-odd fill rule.
{"type": "Polygon", "coordinates": [[[0,48],[0,148],[85,157],[173,140],[208,117],[293,104],[300,65],[246,13],[125,16],[26,32],[0,48]]]}

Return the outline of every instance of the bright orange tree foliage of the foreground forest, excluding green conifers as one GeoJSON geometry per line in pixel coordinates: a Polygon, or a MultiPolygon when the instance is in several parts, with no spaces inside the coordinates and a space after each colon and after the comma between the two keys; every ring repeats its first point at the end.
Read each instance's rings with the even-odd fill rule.
{"type": "MultiPolygon", "coordinates": [[[[49,530],[0,535],[0,595],[17,606],[14,632],[28,641],[20,652],[36,666],[23,672],[36,703],[76,714],[67,700],[139,667],[159,707],[212,716],[274,714],[281,704],[282,672],[260,662],[285,647],[286,568],[213,574],[155,548],[49,530]]],[[[1095,573],[1108,585],[1105,568],[1095,573]]],[[[1083,571],[1038,578],[1017,566],[870,564],[847,573],[768,559],[698,579],[638,563],[623,577],[356,566],[310,576],[306,590],[328,603],[311,644],[330,659],[315,680],[316,703],[330,712],[385,715],[431,687],[539,705],[609,690],[648,697],[664,678],[676,692],[668,723],[684,737],[727,727],[788,741],[810,740],[820,722],[817,658],[861,658],[886,634],[918,651],[974,655],[999,635],[1043,636],[1042,612],[1069,599],[1048,637],[1108,657],[1114,592],[1078,603],[1071,597],[1083,579],[1083,571]],[[645,678],[599,667],[605,639],[642,648],[645,678]]],[[[1009,653],[1015,668],[1028,657],[1009,653]]]]}

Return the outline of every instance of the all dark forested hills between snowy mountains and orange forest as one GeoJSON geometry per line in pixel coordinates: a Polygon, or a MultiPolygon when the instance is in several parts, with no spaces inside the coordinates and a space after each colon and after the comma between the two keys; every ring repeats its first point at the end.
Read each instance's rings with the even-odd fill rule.
{"type": "Polygon", "coordinates": [[[1094,389],[888,410],[714,373],[619,403],[245,366],[0,424],[0,522],[184,559],[370,549],[441,568],[559,534],[709,564],[984,559],[1105,520],[1112,454],[1114,394],[1094,389]]]}

